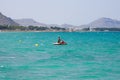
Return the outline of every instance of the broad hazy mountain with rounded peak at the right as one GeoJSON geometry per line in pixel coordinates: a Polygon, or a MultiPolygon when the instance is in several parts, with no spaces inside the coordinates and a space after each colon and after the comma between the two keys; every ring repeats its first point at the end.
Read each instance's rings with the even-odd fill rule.
{"type": "Polygon", "coordinates": [[[81,28],[120,28],[120,21],[110,19],[110,18],[100,18],[98,20],[95,20],[87,25],[79,26],[81,28]]]}

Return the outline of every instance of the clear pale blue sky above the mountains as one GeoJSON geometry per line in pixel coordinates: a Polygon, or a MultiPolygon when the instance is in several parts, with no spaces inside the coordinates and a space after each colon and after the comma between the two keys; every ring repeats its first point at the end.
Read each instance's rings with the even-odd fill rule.
{"type": "Polygon", "coordinates": [[[101,17],[120,20],[120,0],[0,0],[0,12],[12,19],[78,26],[101,17]]]}

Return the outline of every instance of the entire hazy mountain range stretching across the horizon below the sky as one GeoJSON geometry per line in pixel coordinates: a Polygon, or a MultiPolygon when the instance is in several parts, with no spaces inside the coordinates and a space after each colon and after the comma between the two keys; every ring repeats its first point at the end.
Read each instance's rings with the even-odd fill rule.
{"type": "Polygon", "coordinates": [[[83,29],[83,28],[120,28],[120,21],[110,19],[110,18],[100,18],[89,24],[74,26],[70,24],[44,24],[37,22],[30,18],[24,19],[14,19],[4,16],[0,13],[0,25],[9,26],[38,26],[38,27],[61,27],[61,28],[73,28],[73,29],[83,29]]]}

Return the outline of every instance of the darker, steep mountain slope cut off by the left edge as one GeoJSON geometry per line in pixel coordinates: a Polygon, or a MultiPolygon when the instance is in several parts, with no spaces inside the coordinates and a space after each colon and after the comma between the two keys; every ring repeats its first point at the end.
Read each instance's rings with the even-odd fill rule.
{"type": "Polygon", "coordinates": [[[4,16],[0,13],[0,25],[19,26],[18,23],[14,22],[11,18],[4,16]]]}

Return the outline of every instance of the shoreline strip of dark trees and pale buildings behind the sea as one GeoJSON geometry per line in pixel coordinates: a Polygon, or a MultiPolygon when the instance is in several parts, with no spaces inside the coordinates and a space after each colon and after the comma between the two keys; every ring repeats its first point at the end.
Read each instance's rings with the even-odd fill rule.
{"type": "Polygon", "coordinates": [[[120,31],[120,28],[61,28],[61,27],[42,27],[42,26],[3,26],[0,25],[0,32],[95,32],[95,31],[120,31]]]}

